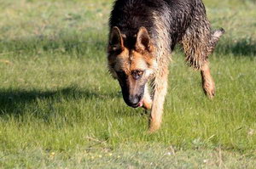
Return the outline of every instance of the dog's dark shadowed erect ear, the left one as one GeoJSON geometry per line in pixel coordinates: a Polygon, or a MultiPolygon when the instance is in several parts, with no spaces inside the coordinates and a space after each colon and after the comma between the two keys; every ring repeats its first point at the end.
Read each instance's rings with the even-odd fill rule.
{"type": "Polygon", "coordinates": [[[117,26],[114,26],[110,32],[108,52],[118,52],[124,50],[124,41],[117,26]]]}

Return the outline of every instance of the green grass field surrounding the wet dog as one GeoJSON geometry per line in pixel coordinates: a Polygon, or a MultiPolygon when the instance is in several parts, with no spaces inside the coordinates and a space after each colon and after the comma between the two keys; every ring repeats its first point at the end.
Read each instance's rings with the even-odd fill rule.
{"type": "Polygon", "coordinates": [[[111,1],[0,1],[0,168],[253,168],[256,4],[205,1],[226,34],[215,99],[178,50],[163,124],[127,107],[108,75],[111,1]]]}

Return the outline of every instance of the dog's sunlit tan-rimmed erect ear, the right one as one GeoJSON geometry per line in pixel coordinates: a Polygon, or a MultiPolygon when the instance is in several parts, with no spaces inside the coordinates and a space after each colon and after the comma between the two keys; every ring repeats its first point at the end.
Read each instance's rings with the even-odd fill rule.
{"type": "Polygon", "coordinates": [[[148,31],[145,27],[140,27],[137,33],[137,41],[135,47],[137,50],[148,50],[148,52],[152,52],[153,46],[151,44],[148,31]]]}

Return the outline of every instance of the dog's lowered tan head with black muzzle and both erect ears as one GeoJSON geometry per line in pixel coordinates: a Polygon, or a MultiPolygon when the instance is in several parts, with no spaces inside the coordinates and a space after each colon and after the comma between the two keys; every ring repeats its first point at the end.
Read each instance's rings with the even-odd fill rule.
{"type": "Polygon", "coordinates": [[[109,34],[108,69],[113,78],[118,79],[125,103],[133,108],[142,106],[144,88],[154,74],[156,60],[154,45],[145,27],[133,35],[132,44],[113,27],[109,34]]]}

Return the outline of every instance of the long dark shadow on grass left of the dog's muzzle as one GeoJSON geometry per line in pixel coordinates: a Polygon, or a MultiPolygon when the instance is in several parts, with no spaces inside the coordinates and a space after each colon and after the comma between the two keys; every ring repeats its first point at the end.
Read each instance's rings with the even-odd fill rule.
{"type": "Polygon", "coordinates": [[[66,87],[49,91],[0,89],[0,117],[23,115],[26,106],[31,106],[31,104],[37,106],[37,100],[46,100],[47,103],[51,104],[62,102],[63,100],[75,101],[84,99],[85,101],[90,101],[92,99],[104,100],[118,97],[121,97],[119,93],[97,93],[87,89],[79,89],[78,87],[66,87]]]}

